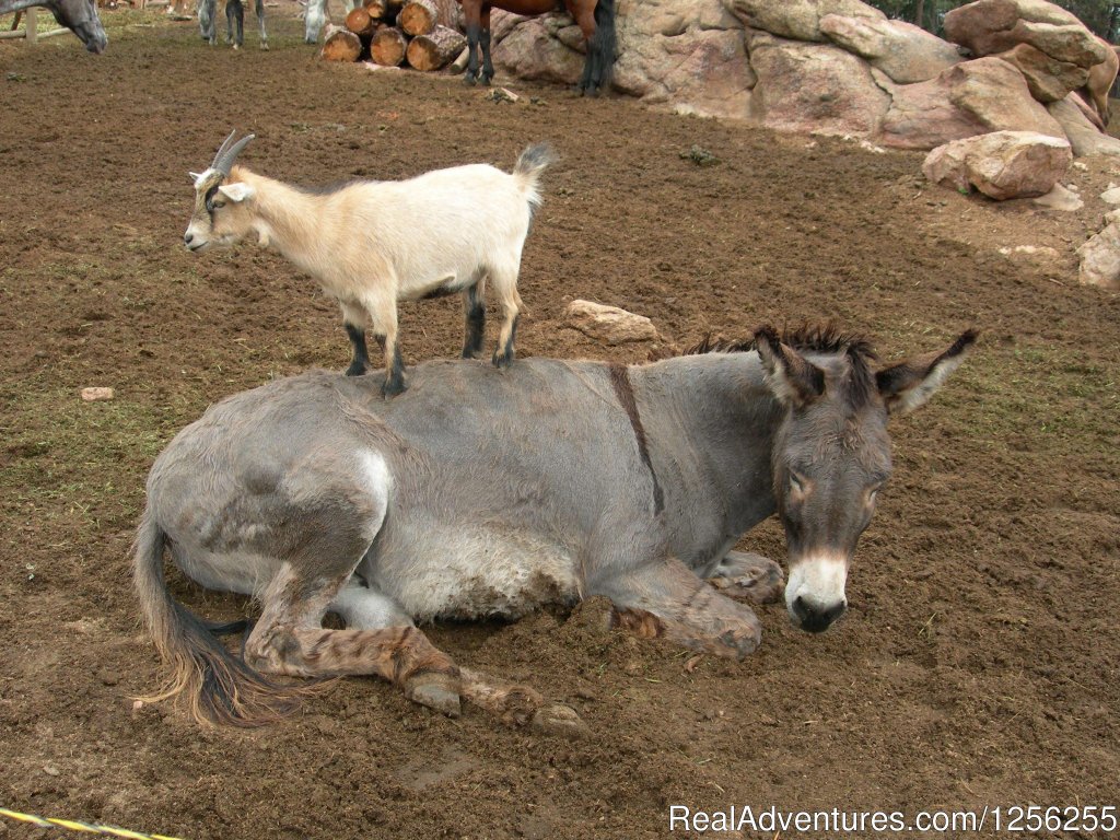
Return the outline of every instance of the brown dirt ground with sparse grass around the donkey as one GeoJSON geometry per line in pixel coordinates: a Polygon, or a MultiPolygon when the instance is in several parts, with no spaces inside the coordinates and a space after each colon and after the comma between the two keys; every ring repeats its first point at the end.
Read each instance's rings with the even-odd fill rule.
{"type": "MultiPolygon", "coordinates": [[[[105,13],[101,57],[69,37],[0,44],[0,806],[195,840],[628,840],[689,836],[670,831],[674,804],[1120,805],[1120,300],[1080,287],[1072,253],[1116,164],[1071,171],[1077,213],[996,206],[931,187],[915,153],[328,66],[293,8],[270,9],[268,53],[251,26],[233,53],[125,11],[105,13]],[[134,710],[162,674],[128,572],[152,459],[211,402],[348,358],[335,305],[283,260],[181,246],[187,170],[233,127],[258,134],[245,164],[308,185],[510,168],[550,140],[523,355],[656,352],[566,328],[578,297],[651,317],[670,349],[836,318],[893,361],[983,330],[933,402],[893,421],[849,615],[810,636],[764,607],[757,654],[691,669],[578,612],[431,629],[458,661],[571,703],[591,730],[575,741],[446,719],[374,679],[248,732],[134,710]],[[697,166],[693,144],[721,162],[697,166]],[[1056,252],[999,253],[1017,245],[1056,252]],[[88,385],[116,396],[83,403],[88,385]]],[[[404,305],[401,335],[410,363],[452,355],[459,301],[404,305]]],[[[740,548],[784,558],[773,521],[740,548]]],[[[252,612],[170,575],[204,615],[252,612]]],[[[0,838],[46,836],[0,818],[0,838]]]]}

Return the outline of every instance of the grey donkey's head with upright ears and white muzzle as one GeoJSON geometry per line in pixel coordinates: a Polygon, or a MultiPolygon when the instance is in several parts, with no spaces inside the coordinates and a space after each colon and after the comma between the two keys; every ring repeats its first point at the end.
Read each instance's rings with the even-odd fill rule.
{"type": "Polygon", "coordinates": [[[866,342],[831,329],[780,339],[755,334],[767,382],[786,413],[773,450],[774,496],[785,528],[785,603],[802,629],[819,633],[848,607],[844,584],[859,535],[890,476],[887,418],[925,404],[964,361],[976,333],[943,353],[870,370],[866,342]]]}

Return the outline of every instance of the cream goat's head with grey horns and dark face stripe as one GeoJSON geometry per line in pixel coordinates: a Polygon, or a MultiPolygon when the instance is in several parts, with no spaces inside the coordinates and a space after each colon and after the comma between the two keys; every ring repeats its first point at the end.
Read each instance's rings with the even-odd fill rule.
{"type": "Polygon", "coordinates": [[[206,171],[190,172],[195,181],[195,208],[183,234],[183,242],[190,251],[235,245],[253,231],[248,207],[253,188],[243,181],[231,181],[231,172],[237,155],[255,134],[234,142],[235,133],[230,132],[206,171]]]}

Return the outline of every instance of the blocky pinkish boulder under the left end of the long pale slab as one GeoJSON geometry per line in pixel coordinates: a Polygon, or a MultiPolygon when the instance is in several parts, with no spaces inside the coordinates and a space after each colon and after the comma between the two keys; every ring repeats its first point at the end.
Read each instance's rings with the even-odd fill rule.
{"type": "Polygon", "coordinates": [[[870,137],[890,104],[868,65],[832,45],[756,32],[750,65],[758,76],[750,118],[765,128],[870,137]]]}

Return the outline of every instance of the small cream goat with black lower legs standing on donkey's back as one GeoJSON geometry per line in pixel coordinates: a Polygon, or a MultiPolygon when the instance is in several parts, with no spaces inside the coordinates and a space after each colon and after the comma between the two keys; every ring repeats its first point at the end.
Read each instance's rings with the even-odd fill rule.
{"type": "Polygon", "coordinates": [[[396,340],[398,300],[463,292],[463,357],[477,358],[489,281],[505,317],[493,362],[496,367],[513,362],[521,251],[541,203],[540,174],[554,159],[548,144],[526,148],[512,175],[474,164],[409,180],[309,190],[234,166],[254,137],[233,142],[234,133],[209,169],[190,174],[195,207],[183,237],[190,251],[234,245],[250,235],[277,249],[342,306],[354,351],[346,375],[366,372],[365,329],[372,327],[384,352],[386,396],[408,388],[396,340]]]}

